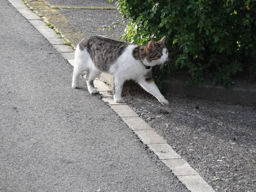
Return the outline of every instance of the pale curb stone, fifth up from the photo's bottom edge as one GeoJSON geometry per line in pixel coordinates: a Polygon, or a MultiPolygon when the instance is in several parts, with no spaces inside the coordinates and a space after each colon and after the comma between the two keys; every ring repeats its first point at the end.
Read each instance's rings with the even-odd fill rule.
{"type": "Polygon", "coordinates": [[[129,128],[132,130],[152,130],[152,128],[141,119],[139,116],[136,117],[122,117],[121,118],[129,128]]]}

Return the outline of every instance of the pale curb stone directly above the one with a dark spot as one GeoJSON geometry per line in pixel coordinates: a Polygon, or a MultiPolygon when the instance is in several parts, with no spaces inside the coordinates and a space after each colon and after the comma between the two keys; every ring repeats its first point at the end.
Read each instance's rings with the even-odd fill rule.
{"type": "Polygon", "coordinates": [[[134,131],[134,133],[137,134],[144,144],[166,143],[166,141],[153,130],[137,130],[134,131]]]}

